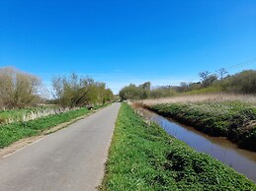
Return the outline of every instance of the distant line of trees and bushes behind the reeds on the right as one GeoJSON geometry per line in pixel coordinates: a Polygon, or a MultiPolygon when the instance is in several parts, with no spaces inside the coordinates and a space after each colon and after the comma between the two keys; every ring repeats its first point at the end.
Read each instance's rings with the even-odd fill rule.
{"type": "Polygon", "coordinates": [[[209,71],[199,73],[201,81],[196,83],[182,82],[179,86],[150,87],[143,85],[135,86],[130,84],[120,91],[120,96],[125,99],[144,99],[176,96],[180,94],[201,94],[201,93],[230,93],[230,94],[256,94],[256,71],[245,70],[234,75],[228,75],[224,68],[212,74],[209,71]]]}

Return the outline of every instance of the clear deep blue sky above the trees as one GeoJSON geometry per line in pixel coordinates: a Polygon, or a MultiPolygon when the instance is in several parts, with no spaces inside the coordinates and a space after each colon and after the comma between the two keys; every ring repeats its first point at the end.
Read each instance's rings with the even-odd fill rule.
{"type": "Polygon", "coordinates": [[[206,70],[255,69],[245,63],[255,57],[255,0],[0,0],[0,67],[46,86],[70,72],[115,93],[177,85],[206,70]]]}

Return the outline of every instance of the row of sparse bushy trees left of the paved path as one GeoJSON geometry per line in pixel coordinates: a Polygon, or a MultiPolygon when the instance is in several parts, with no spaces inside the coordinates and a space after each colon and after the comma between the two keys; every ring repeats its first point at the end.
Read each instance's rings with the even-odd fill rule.
{"type": "Polygon", "coordinates": [[[53,98],[45,98],[39,77],[12,67],[0,68],[0,108],[36,106],[45,101],[64,107],[81,107],[114,99],[105,83],[77,74],[54,77],[51,84],[53,98]]]}

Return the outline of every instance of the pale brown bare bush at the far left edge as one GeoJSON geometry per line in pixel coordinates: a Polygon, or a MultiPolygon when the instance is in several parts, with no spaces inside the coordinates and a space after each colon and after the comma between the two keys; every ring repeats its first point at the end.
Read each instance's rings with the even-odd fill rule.
{"type": "Polygon", "coordinates": [[[40,102],[41,80],[14,68],[0,68],[0,107],[14,108],[40,102]]]}

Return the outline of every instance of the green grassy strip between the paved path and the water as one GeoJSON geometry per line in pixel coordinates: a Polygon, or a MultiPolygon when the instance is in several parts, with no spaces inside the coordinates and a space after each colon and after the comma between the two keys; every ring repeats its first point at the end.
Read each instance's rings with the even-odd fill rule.
{"type": "Polygon", "coordinates": [[[102,190],[256,190],[232,168],[147,124],[123,104],[102,190]]]}

